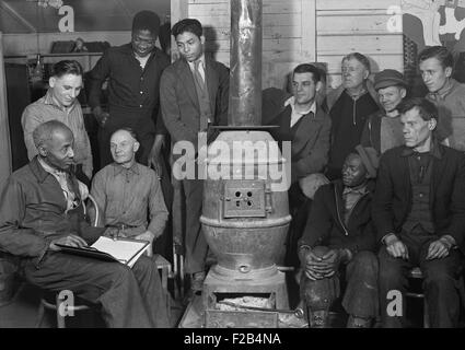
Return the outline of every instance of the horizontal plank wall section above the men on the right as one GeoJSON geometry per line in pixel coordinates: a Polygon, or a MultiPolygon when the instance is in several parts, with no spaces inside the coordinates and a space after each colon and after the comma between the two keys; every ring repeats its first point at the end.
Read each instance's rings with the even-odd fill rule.
{"type": "Polygon", "coordinates": [[[316,0],[317,61],[328,65],[328,86],[340,85],[341,58],[349,52],[367,55],[373,72],[404,70],[402,25],[393,23],[402,16],[393,18],[394,7],[400,0],[316,0]]]}

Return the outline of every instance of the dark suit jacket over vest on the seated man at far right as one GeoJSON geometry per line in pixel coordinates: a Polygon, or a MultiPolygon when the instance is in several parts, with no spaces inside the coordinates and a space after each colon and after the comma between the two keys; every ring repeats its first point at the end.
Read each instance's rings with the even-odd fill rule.
{"type": "MultiPolygon", "coordinates": [[[[450,234],[465,252],[465,155],[435,142],[440,159],[432,160],[430,210],[439,236],[450,234]]],[[[399,233],[411,209],[411,184],[405,145],[386,151],[380,161],[373,202],[379,238],[399,233]]]]}

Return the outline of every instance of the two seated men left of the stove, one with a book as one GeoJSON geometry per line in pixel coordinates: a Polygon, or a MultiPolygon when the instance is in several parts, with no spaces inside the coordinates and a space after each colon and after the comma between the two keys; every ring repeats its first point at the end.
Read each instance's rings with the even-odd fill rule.
{"type": "Polygon", "coordinates": [[[113,135],[115,162],[95,178],[93,191],[100,199],[103,194],[107,201],[103,207],[106,222],[103,228],[91,226],[84,218],[85,187],[72,171],[74,137],[70,128],[49,120],[34,130],[33,139],[38,154],[14,172],[3,187],[1,249],[20,257],[21,272],[31,283],[57,293],[69,290],[100,305],[108,327],[168,327],[167,295],[150,257],[140,257],[129,268],[124,264],[69,256],[57,246],[83,247],[103,234],[115,232],[151,241],[163,230],[167,211],[159,180],[153,170],[136,162],[139,143],[132,132],[121,129],[113,135]],[[109,177],[112,182],[105,182],[109,177]],[[131,224],[113,225],[126,210],[131,210],[131,224]]]}

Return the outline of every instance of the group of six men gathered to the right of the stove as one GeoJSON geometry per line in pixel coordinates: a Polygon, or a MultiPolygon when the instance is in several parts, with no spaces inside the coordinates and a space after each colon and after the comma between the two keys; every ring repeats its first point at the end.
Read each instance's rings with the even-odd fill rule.
{"type": "Polygon", "coordinates": [[[452,67],[444,47],[425,49],[419,69],[429,93],[407,98],[400,72],[383,70],[372,84],[369,60],[350,54],[342,60],[342,85],[323,104],[318,69],[294,69],[293,95],[270,124],[280,126],[278,140],[293,142],[289,199],[301,222],[290,230],[297,254],[292,242],[288,249],[299,257],[312,327],[327,325],[341,278],[348,327],[370,327],[379,316],[383,327],[407,326],[414,267],[423,275],[431,326],[457,326],[465,85],[451,77],[452,67]]]}

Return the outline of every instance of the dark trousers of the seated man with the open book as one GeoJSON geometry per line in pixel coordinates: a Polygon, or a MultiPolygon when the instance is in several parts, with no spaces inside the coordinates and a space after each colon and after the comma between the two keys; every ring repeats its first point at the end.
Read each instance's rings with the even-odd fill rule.
{"type": "Polygon", "coordinates": [[[98,304],[108,327],[170,327],[166,295],[154,261],[142,256],[131,268],[63,253],[48,253],[39,267],[23,260],[28,282],[49,291],[69,290],[98,304]]]}

